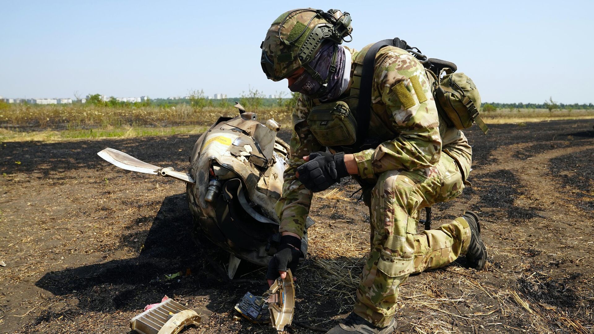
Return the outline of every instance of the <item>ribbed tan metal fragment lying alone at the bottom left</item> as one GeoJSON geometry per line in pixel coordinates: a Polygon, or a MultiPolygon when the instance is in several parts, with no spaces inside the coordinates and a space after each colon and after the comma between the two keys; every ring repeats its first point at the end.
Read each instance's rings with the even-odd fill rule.
{"type": "Polygon", "coordinates": [[[198,324],[200,316],[172,299],[168,299],[130,320],[130,329],[141,334],[178,334],[185,326],[198,324]]]}

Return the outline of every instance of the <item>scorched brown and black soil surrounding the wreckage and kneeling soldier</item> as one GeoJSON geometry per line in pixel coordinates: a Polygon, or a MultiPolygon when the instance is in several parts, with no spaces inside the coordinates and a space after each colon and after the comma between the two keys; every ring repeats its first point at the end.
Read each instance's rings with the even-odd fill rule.
{"type": "MultiPolygon", "coordinates": [[[[437,204],[433,226],[478,212],[488,263],[476,272],[460,259],[411,276],[400,288],[399,331],[593,332],[594,122],[520,125],[490,125],[488,136],[465,131],[472,187],[437,204]]],[[[0,144],[0,333],[128,333],[129,319],[163,295],[204,316],[184,333],[276,332],[231,319],[245,292],[266,289],[264,270],[242,263],[229,282],[214,269],[227,256],[192,240],[182,182],[122,171],[96,155],[113,147],[185,170],[197,138],[0,144]]],[[[321,254],[336,250],[334,260],[355,263],[356,278],[369,247],[368,210],[345,198],[358,187],[336,187],[342,197],[314,199],[312,256],[296,272],[295,320],[304,326],[328,329],[353,303],[352,287],[320,276],[321,254]],[[353,245],[358,253],[340,252],[353,245]]],[[[289,332],[312,332],[304,326],[289,332]]]]}

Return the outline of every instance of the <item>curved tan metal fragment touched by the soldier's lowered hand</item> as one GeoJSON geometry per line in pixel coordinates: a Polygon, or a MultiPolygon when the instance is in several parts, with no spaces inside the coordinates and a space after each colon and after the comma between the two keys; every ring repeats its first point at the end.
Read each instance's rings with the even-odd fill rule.
{"type": "Polygon", "coordinates": [[[295,285],[291,270],[287,270],[285,279],[277,278],[270,289],[264,294],[268,300],[270,324],[279,332],[285,330],[293,321],[295,310],[295,285]]]}

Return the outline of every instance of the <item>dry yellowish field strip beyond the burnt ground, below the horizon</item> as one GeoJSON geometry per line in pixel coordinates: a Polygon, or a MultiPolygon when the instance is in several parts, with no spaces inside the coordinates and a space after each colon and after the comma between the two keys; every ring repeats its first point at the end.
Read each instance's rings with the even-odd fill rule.
{"type": "MultiPolygon", "coordinates": [[[[245,107],[248,108],[248,106],[245,107]]],[[[260,119],[274,117],[282,124],[290,124],[290,110],[285,107],[260,107],[249,110],[257,112],[260,119]]],[[[235,114],[236,109],[232,106],[227,108],[211,106],[192,108],[189,105],[180,104],[175,106],[110,107],[90,104],[21,105],[0,102],[0,129],[39,132],[44,130],[113,130],[139,127],[208,127],[219,116],[234,116],[235,114]]],[[[491,112],[481,112],[481,115],[489,124],[507,124],[588,119],[594,118],[594,110],[569,109],[549,112],[546,109],[497,109],[491,112]]],[[[0,140],[6,140],[7,136],[8,133],[0,133],[0,140]]]]}

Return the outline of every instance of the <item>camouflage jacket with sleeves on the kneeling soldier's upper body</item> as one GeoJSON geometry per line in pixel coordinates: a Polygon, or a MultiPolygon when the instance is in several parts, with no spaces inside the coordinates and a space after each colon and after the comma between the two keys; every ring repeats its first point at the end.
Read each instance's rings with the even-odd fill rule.
{"type": "MultiPolygon", "coordinates": [[[[371,45],[364,50],[369,46],[371,45]]],[[[358,51],[349,50],[353,62],[362,58],[357,57],[358,51]]],[[[355,66],[353,64],[352,69],[355,66]]],[[[423,65],[410,53],[393,46],[380,49],[375,56],[373,80],[369,133],[386,133],[387,128],[389,133],[393,133],[393,137],[387,138],[376,149],[355,153],[359,177],[373,183],[376,175],[384,171],[413,171],[435,166],[440,160],[442,149],[440,130],[448,139],[444,143],[444,149],[445,144],[451,144],[451,147],[448,146],[450,155],[470,159],[472,151],[462,131],[447,128],[446,125],[442,125],[440,129],[437,107],[431,94],[431,82],[423,65]],[[424,96],[418,96],[421,92],[424,96]]],[[[352,83],[353,72],[350,80],[351,85],[352,83]]],[[[350,94],[349,87],[343,97],[350,94]]],[[[309,131],[307,123],[309,111],[316,104],[317,102],[303,94],[296,103],[292,115],[291,159],[285,171],[283,194],[275,207],[281,219],[280,232],[293,232],[301,237],[305,232],[305,219],[309,214],[312,192],[295,177],[295,172],[305,162],[303,156],[326,150],[309,131]]]]}

